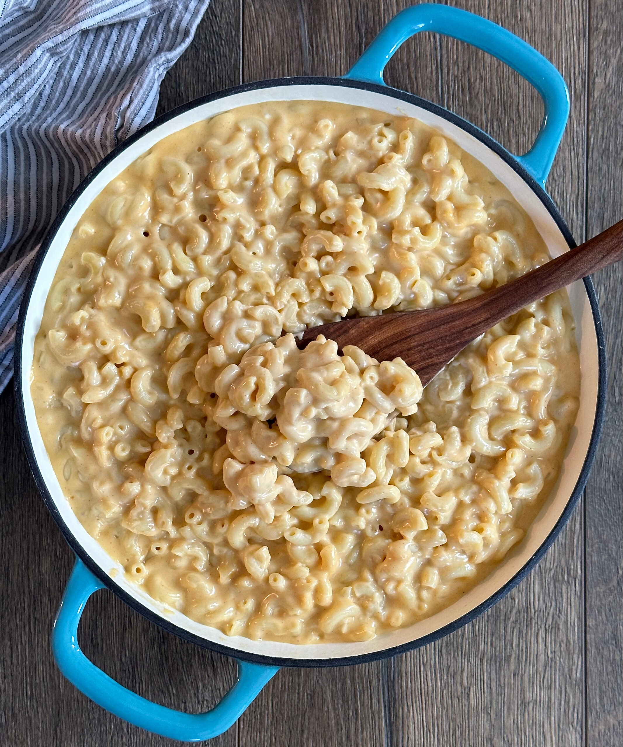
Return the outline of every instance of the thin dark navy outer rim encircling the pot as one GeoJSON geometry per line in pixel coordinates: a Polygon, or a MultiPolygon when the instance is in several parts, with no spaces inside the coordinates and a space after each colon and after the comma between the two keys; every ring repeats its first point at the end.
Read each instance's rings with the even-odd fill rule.
{"type": "MultiPolygon", "coordinates": [[[[146,125],[144,128],[141,128],[141,130],[133,134],[132,137],[129,137],[123,143],[120,143],[120,145],[118,145],[113,151],[111,151],[103,159],[103,161],[101,161],[88,174],[88,176],[85,177],[85,179],[80,183],[80,185],[76,188],[76,190],[74,190],[70,198],[67,199],[67,202],[64,204],[63,208],[59,212],[54,223],[52,223],[52,226],[50,227],[49,231],[46,234],[46,238],[43,240],[41,244],[40,250],[37,253],[37,258],[34,261],[34,266],[31,270],[30,277],[28,278],[28,284],[25,289],[24,298],[22,300],[22,306],[19,310],[19,320],[17,324],[17,335],[16,335],[16,345],[15,345],[16,356],[15,356],[14,386],[15,386],[15,392],[16,392],[16,408],[17,408],[17,415],[18,415],[18,420],[19,420],[19,427],[22,432],[22,439],[24,441],[26,456],[28,457],[28,462],[33,472],[34,480],[37,483],[37,487],[39,488],[41,492],[43,500],[45,501],[46,506],[48,507],[49,512],[54,517],[56,523],[61,528],[61,532],[64,534],[64,537],[67,540],[67,543],[70,545],[70,548],[72,548],[72,550],[76,553],[76,556],[79,557],[79,559],[85,563],[85,565],[91,571],[91,573],[93,573],[94,576],[99,578],[99,580],[101,580],[102,583],[104,583],[108,589],[110,589],[112,592],[114,592],[114,594],[116,594],[118,597],[123,599],[123,601],[126,602],[126,604],[129,604],[129,606],[132,607],[132,609],[136,610],[138,613],[141,613],[141,615],[143,615],[144,617],[146,617],[147,619],[149,619],[151,622],[155,623],[156,625],[163,627],[165,630],[168,630],[170,633],[174,633],[175,635],[179,636],[182,639],[185,639],[189,642],[203,646],[203,648],[209,648],[212,651],[218,651],[219,654],[224,654],[225,656],[235,657],[236,659],[250,661],[253,663],[257,663],[257,664],[266,664],[266,665],[271,665],[271,666],[298,666],[298,667],[346,666],[346,665],[362,664],[362,663],[366,663],[369,661],[384,659],[387,657],[392,657],[396,654],[402,654],[405,651],[411,651],[415,648],[420,648],[421,646],[427,645],[433,641],[443,638],[444,636],[448,635],[448,633],[452,633],[454,630],[458,630],[459,627],[463,627],[468,622],[471,622],[472,620],[476,619],[476,617],[478,617],[479,615],[482,615],[482,613],[484,613],[485,610],[488,610],[490,607],[492,607],[494,604],[500,601],[500,599],[506,596],[511,591],[511,589],[514,589],[515,586],[517,586],[518,583],[522,579],[524,579],[524,577],[526,577],[527,574],[530,573],[530,571],[533,570],[535,565],[539,562],[539,560],[541,560],[541,558],[550,548],[550,545],[552,545],[554,539],[556,539],[556,537],[559,535],[560,530],[562,530],[562,527],[564,527],[565,524],[567,523],[569,517],[571,516],[571,512],[573,511],[577,503],[577,500],[580,498],[580,495],[583,492],[584,486],[586,485],[586,480],[589,477],[590,468],[595,459],[595,451],[597,449],[599,436],[601,434],[601,428],[604,423],[604,408],[605,408],[605,403],[606,403],[607,365],[606,365],[606,353],[605,353],[605,346],[604,346],[604,332],[601,326],[601,315],[598,309],[597,297],[595,295],[595,288],[590,278],[584,279],[584,285],[586,287],[586,294],[589,297],[589,303],[591,305],[593,322],[595,323],[595,333],[597,335],[597,341],[598,341],[598,374],[599,374],[598,397],[597,397],[597,405],[595,408],[595,421],[593,424],[593,430],[592,430],[592,436],[591,436],[591,440],[589,444],[589,449],[586,453],[586,459],[584,460],[582,471],[580,471],[580,476],[577,479],[577,483],[574,487],[574,491],[571,493],[571,496],[568,500],[567,505],[565,506],[565,509],[562,512],[562,515],[560,515],[560,518],[556,522],[556,525],[550,531],[549,535],[544,540],[544,542],[539,546],[535,554],[533,554],[533,556],[530,557],[530,560],[528,560],[522,566],[522,568],[515,574],[515,576],[512,577],[512,579],[507,581],[504,584],[504,586],[498,589],[497,592],[491,595],[491,597],[489,597],[484,602],[482,602],[482,604],[479,604],[478,607],[474,607],[473,610],[470,610],[470,612],[454,620],[453,622],[450,622],[449,624],[444,625],[444,627],[441,627],[438,630],[435,630],[434,632],[429,633],[429,635],[427,636],[423,636],[422,638],[418,638],[414,641],[403,643],[402,645],[392,646],[390,648],[384,648],[381,651],[374,651],[369,654],[360,654],[360,655],[335,658],[335,659],[331,659],[331,658],[329,659],[304,659],[304,658],[296,658],[296,657],[285,658],[285,657],[264,656],[262,654],[253,654],[248,651],[240,651],[239,649],[236,649],[236,648],[233,648],[227,645],[222,645],[219,643],[206,640],[204,638],[201,638],[200,636],[194,635],[194,633],[188,633],[187,630],[184,630],[182,627],[178,627],[177,625],[171,623],[170,621],[165,619],[164,616],[160,616],[157,613],[154,613],[152,610],[147,609],[147,607],[144,607],[136,598],[134,598],[132,595],[129,595],[129,593],[127,593],[124,589],[118,586],[117,583],[115,583],[115,581],[107,573],[105,573],[105,571],[102,571],[102,568],[99,568],[99,565],[97,565],[96,562],[92,560],[88,552],[85,550],[85,548],[82,547],[82,545],[78,542],[76,537],[73,536],[73,533],[71,533],[71,531],[67,527],[67,524],[65,524],[63,519],[61,518],[61,514],[58,511],[58,508],[56,507],[54,500],[52,499],[52,495],[50,495],[49,493],[49,490],[46,486],[45,481],[43,480],[43,476],[40,472],[39,465],[37,463],[37,458],[34,455],[34,449],[32,446],[30,433],[28,432],[28,427],[26,425],[25,406],[24,406],[24,401],[22,398],[22,383],[21,382],[22,382],[22,376],[24,375],[24,371],[22,371],[22,342],[23,342],[23,335],[24,335],[26,310],[28,309],[31,294],[32,294],[37,276],[39,274],[41,264],[43,263],[43,258],[46,255],[46,252],[48,251],[50,244],[52,243],[52,240],[56,235],[56,232],[58,232],[58,229],[60,228],[61,223],[63,223],[65,217],[67,217],[68,212],[73,207],[73,205],[76,203],[76,200],[85,190],[85,188],[88,187],[90,182],[92,182],[93,179],[95,179],[96,176],[98,176],[98,174],[108,164],[110,164],[111,161],[114,160],[114,158],[117,158],[117,156],[121,152],[123,152],[126,148],[129,148],[129,146],[135,143],[136,140],[139,140],[147,132],[150,132],[154,128],[158,127],[159,125],[162,125],[162,123],[165,123],[165,122],[168,122],[168,120],[174,119],[174,117],[177,117],[179,114],[183,114],[184,112],[194,109],[199,105],[206,104],[208,102],[215,101],[217,99],[225,99],[228,96],[232,96],[235,93],[247,93],[248,91],[260,90],[264,88],[296,86],[296,85],[337,86],[337,87],[346,87],[346,88],[357,88],[357,89],[364,90],[364,91],[381,93],[384,96],[390,96],[393,99],[402,99],[402,101],[419,106],[423,109],[426,109],[427,111],[432,112],[433,114],[437,114],[439,117],[443,117],[444,120],[447,120],[451,122],[452,124],[457,125],[459,128],[463,129],[464,131],[467,131],[469,134],[473,135],[473,137],[476,137],[477,140],[480,140],[480,142],[484,143],[485,146],[488,146],[489,149],[497,153],[497,155],[499,155],[500,158],[502,158],[503,161],[506,162],[506,164],[509,164],[509,166],[512,167],[512,169],[515,170],[515,172],[517,172],[519,176],[521,176],[521,179],[523,179],[524,182],[526,182],[527,185],[530,187],[530,189],[533,190],[536,196],[538,196],[538,199],[540,199],[541,202],[543,203],[544,207],[547,208],[547,211],[549,212],[551,217],[553,217],[553,220],[556,221],[556,225],[560,229],[560,232],[562,233],[562,235],[565,237],[565,241],[567,241],[567,244],[569,245],[569,247],[573,248],[576,246],[574,238],[571,236],[571,232],[565,225],[565,222],[562,220],[562,216],[559,214],[559,211],[556,208],[556,205],[554,205],[550,196],[545,192],[543,187],[541,187],[541,185],[539,185],[538,182],[535,181],[533,176],[531,176],[530,173],[528,173],[527,170],[519,163],[519,161],[517,161],[515,156],[513,156],[509,151],[503,148],[503,146],[501,146],[500,143],[497,143],[497,141],[494,140],[492,137],[490,137],[488,134],[486,134],[485,132],[483,132],[482,130],[474,126],[473,124],[467,122],[467,120],[464,120],[461,117],[458,117],[456,114],[453,114],[451,111],[447,111],[446,109],[444,109],[441,106],[438,106],[437,104],[433,104],[432,102],[426,101],[426,99],[421,99],[420,96],[414,96],[413,94],[406,93],[405,91],[402,91],[402,90],[381,86],[379,84],[372,84],[372,83],[367,83],[363,81],[349,80],[346,78],[322,78],[322,77],[277,78],[274,80],[257,81],[254,83],[245,83],[240,86],[236,86],[233,88],[228,88],[226,90],[219,91],[218,93],[212,93],[209,96],[203,96],[200,99],[195,99],[193,102],[189,102],[188,104],[179,106],[167,112],[166,114],[163,114],[162,117],[158,117],[158,119],[154,120],[152,123],[146,125]]],[[[362,100],[361,105],[365,105],[365,103],[366,102],[362,100]]],[[[240,106],[240,104],[238,106],[240,106]]],[[[28,372],[26,372],[26,375],[28,375],[28,372]]]]}

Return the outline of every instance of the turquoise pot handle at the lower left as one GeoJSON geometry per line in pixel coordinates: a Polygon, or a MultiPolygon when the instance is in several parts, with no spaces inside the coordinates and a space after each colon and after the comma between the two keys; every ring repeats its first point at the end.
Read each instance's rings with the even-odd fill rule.
{"type": "Polygon", "coordinates": [[[76,559],[52,630],[52,651],[58,668],[72,684],[130,724],[184,742],[217,737],[239,719],[279,669],[236,660],[238,681],[207,713],[182,713],[141,698],[98,669],[78,645],[78,624],[85,604],[93,592],[103,588],[104,584],[76,559]]]}

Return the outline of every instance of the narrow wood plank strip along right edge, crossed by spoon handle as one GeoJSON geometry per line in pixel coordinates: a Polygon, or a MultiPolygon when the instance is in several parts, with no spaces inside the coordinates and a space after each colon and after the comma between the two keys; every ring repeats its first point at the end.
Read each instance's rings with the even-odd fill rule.
{"type": "MultiPolygon", "coordinates": [[[[623,216],[623,17],[592,0],[587,232],[623,216]]],[[[595,277],[609,364],[607,418],[586,487],[586,743],[623,744],[623,266],[595,277]]]]}

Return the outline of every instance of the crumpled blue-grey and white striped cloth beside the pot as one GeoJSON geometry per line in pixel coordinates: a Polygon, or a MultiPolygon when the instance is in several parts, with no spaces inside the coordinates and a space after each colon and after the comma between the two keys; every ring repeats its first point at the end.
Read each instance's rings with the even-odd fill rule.
{"type": "Polygon", "coordinates": [[[19,300],[59,209],[153,119],[209,0],[0,0],[0,391],[19,300]]]}

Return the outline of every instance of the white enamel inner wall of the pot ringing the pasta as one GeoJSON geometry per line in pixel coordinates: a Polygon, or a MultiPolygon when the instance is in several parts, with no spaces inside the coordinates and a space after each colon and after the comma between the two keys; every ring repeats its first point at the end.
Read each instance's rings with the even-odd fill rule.
{"type": "MultiPolygon", "coordinates": [[[[441,130],[445,135],[450,137],[455,143],[458,143],[462,149],[469,152],[479,161],[482,161],[489,170],[500,180],[511,193],[520,202],[523,208],[532,217],[535,226],[544,238],[547,247],[552,256],[560,255],[568,250],[567,243],[553,218],[547,212],[547,209],[526,185],[523,179],[511,168],[497,153],[493,152],[488,146],[485,146],[472,135],[468,134],[457,125],[449,123],[437,114],[432,114],[426,109],[412,105],[408,102],[394,99],[381,93],[372,93],[358,88],[349,88],[338,85],[328,84],[309,84],[309,85],[287,85],[263,88],[261,90],[251,90],[246,93],[236,93],[232,96],[226,96],[223,99],[217,99],[196,108],[186,111],[184,114],[174,117],[168,122],[162,123],[159,127],[145,134],[139,140],[125,149],[117,158],[108,164],[102,172],[93,179],[93,182],[82,192],[73,205],[69,214],[61,225],[57,234],[52,240],[46,258],[40,268],[37,276],[37,282],[31,295],[30,303],[25,320],[25,329],[22,342],[22,350],[19,355],[22,356],[22,381],[19,385],[22,388],[22,396],[25,404],[26,424],[31,436],[32,446],[37,458],[37,462],[43,475],[43,479],[49,489],[50,495],[54,500],[58,511],[63,518],[64,523],[69,528],[73,536],[88,552],[90,557],[102,568],[107,574],[114,577],[115,583],[125,592],[135,598],[139,604],[151,610],[156,615],[167,619],[169,622],[177,625],[189,633],[199,636],[200,638],[216,642],[234,650],[247,651],[253,654],[276,658],[295,658],[307,660],[319,659],[340,659],[343,657],[361,656],[371,654],[376,651],[382,651],[386,648],[403,645],[408,642],[419,639],[429,633],[439,630],[441,627],[461,618],[469,613],[475,607],[485,602],[494,595],[502,586],[504,586],[521,568],[530,560],[538,548],[547,538],[556,522],[559,520],[574,486],[583,467],[586,453],[589,449],[589,441],[592,434],[593,423],[595,421],[595,411],[598,397],[598,343],[595,333],[595,325],[592,318],[589,299],[582,282],[576,282],[569,288],[571,295],[571,306],[577,322],[577,342],[580,349],[580,365],[582,371],[582,384],[580,395],[580,412],[577,415],[577,422],[573,433],[571,434],[570,444],[567,456],[562,468],[562,474],[553,490],[547,503],[541,509],[533,526],[521,542],[515,548],[515,551],[509,554],[497,568],[482,583],[479,583],[472,591],[465,594],[460,601],[455,602],[445,610],[421,621],[411,627],[405,627],[395,630],[381,636],[377,636],[368,642],[352,643],[325,643],[316,645],[294,645],[288,643],[276,643],[271,641],[252,641],[242,636],[230,637],[221,633],[220,630],[207,627],[206,625],[194,622],[177,610],[171,609],[164,604],[154,601],[148,596],[140,586],[126,580],[123,568],[114,560],[108,557],[103,548],[99,546],[95,539],[90,537],[82,524],[76,518],[70,508],[70,504],[63,495],[61,486],[52,469],[43,440],[40,435],[37,419],[34,415],[34,406],[31,398],[30,383],[31,377],[28,373],[31,371],[33,358],[34,338],[39,330],[43,306],[48,295],[52,279],[54,278],[58,262],[63,255],[67,242],[70,239],[76,223],[84,213],[85,209],[93,202],[93,199],[99,194],[105,185],[114,179],[123,169],[125,169],[135,158],[150,149],[154,143],[162,140],[163,137],[176,132],[182,128],[188,127],[200,120],[213,117],[222,111],[236,108],[238,106],[254,104],[266,101],[286,101],[286,100],[316,100],[343,102],[357,106],[365,106],[372,109],[378,109],[387,112],[387,114],[400,114],[407,117],[415,117],[428,125],[441,130]]],[[[233,651],[235,653],[235,651],[233,651]]]]}

